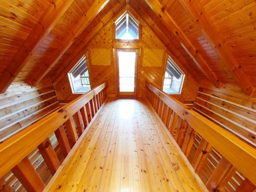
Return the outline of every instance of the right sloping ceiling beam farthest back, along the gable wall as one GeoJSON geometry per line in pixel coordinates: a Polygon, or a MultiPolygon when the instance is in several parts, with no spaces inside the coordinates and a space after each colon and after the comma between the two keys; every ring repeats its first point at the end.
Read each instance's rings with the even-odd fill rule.
{"type": "Polygon", "coordinates": [[[176,57],[176,59],[184,66],[184,68],[186,69],[186,72],[190,73],[191,76],[194,77],[196,82],[201,84],[202,82],[201,77],[196,74],[192,66],[190,66],[188,61],[182,56],[179,50],[177,50],[177,48],[173,46],[172,42],[166,37],[164,32],[162,32],[162,30],[157,26],[157,24],[152,20],[152,18],[150,18],[148,13],[146,13],[146,11],[143,8],[134,7],[133,4],[130,4],[130,6],[128,6],[128,11],[135,18],[137,19],[141,18],[141,20],[144,20],[146,24],[153,30],[156,36],[160,38],[160,40],[162,41],[164,46],[169,50],[169,52],[172,53],[172,55],[176,57]]]}

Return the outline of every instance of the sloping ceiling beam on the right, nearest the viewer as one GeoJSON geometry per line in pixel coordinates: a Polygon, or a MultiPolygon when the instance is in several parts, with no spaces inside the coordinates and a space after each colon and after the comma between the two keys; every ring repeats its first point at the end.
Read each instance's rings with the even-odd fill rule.
{"type": "Polygon", "coordinates": [[[252,82],[250,82],[247,75],[244,73],[244,70],[220,36],[220,32],[210,21],[210,18],[208,18],[202,6],[200,6],[200,3],[197,3],[196,1],[179,1],[190,14],[190,17],[197,24],[198,28],[201,29],[201,32],[204,34],[212,48],[215,48],[215,51],[222,57],[225,66],[229,69],[232,77],[236,80],[240,88],[242,88],[246,95],[252,94],[255,90],[252,82]]]}

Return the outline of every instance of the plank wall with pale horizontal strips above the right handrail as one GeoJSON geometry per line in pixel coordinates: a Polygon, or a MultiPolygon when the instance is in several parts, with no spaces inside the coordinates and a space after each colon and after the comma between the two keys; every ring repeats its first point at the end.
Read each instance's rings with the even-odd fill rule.
{"type": "Polygon", "coordinates": [[[256,98],[245,96],[237,86],[200,86],[193,109],[256,146],[256,98]]]}

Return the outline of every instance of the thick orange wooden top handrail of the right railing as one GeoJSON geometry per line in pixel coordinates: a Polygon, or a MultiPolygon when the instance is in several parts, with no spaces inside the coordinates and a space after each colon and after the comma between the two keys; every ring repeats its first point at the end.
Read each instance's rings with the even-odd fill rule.
{"type": "Polygon", "coordinates": [[[256,185],[255,148],[236,138],[172,96],[158,90],[149,82],[146,82],[146,86],[148,87],[147,98],[153,107],[155,106],[156,111],[159,111],[160,108],[163,111],[163,107],[160,104],[161,100],[161,102],[164,102],[164,104],[182,118],[187,126],[200,134],[204,140],[212,145],[226,160],[256,185]]]}

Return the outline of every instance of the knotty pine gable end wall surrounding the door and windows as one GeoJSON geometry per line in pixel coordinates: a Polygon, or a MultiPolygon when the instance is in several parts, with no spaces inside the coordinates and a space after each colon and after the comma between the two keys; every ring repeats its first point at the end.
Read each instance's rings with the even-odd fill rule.
{"type": "MultiPolygon", "coordinates": [[[[80,53],[86,54],[88,71],[90,76],[91,88],[108,81],[107,93],[109,96],[116,96],[116,48],[139,48],[138,61],[138,96],[146,96],[146,81],[150,81],[156,87],[161,88],[163,77],[166,69],[166,62],[170,51],[164,46],[159,38],[154,34],[150,27],[141,18],[138,19],[142,25],[142,40],[131,42],[120,42],[113,40],[114,21],[108,23],[86,46],[86,49],[80,53]],[[142,74],[143,71],[143,74],[142,74]]],[[[171,55],[172,56],[172,55],[171,55]]],[[[80,57],[77,57],[78,60],[80,57]]],[[[191,74],[178,62],[177,58],[174,61],[186,74],[182,94],[173,95],[182,102],[193,102],[198,90],[198,83],[191,74]]],[[[74,64],[76,61],[73,61],[74,64]]],[[[71,68],[71,67],[70,67],[71,68]]],[[[67,74],[61,76],[56,83],[54,82],[56,94],[60,102],[67,103],[80,94],[72,94],[67,74]]]]}

